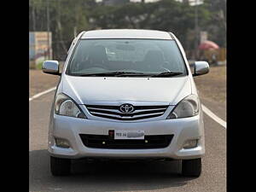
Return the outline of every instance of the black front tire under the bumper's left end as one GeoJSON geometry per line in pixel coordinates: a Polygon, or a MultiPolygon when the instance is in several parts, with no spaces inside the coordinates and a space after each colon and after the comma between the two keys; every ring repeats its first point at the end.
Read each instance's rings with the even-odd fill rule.
{"type": "Polygon", "coordinates": [[[71,160],[50,156],[50,172],[53,176],[70,175],[71,160]]]}

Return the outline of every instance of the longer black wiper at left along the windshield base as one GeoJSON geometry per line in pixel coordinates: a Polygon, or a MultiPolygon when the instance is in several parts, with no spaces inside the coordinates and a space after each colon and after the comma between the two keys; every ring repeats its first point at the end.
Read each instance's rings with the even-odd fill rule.
{"type": "Polygon", "coordinates": [[[145,73],[135,73],[135,72],[110,72],[110,73],[82,73],[82,74],[73,74],[75,76],[86,77],[86,76],[94,76],[94,77],[104,77],[104,76],[113,76],[113,77],[120,77],[120,76],[144,76],[148,74],[145,73]]]}

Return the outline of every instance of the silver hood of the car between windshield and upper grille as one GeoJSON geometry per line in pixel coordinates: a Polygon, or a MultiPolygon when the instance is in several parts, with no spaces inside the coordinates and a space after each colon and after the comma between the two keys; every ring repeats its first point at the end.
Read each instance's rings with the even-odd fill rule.
{"type": "Polygon", "coordinates": [[[176,105],[191,94],[189,76],[172,78],[145,77],[74,77],[64,75],[61,92],[78,104],[96,102],[166,102],[176,105]]]}

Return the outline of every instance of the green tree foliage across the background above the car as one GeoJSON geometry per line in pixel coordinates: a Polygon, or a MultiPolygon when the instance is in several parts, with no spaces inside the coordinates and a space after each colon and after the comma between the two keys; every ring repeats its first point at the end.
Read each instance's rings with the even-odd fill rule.
{"type": "MultiPolygon", "coordinates": [[[[55,59],[66,55],[74,32],[96,28],[137,28],[172,31],[185,49],[193,49],[195,41],[195,6],[175,0],[156,3],[125,3],[104,6],[94,0],[29,0],[30,31],[47,30],[47,1],[49,24],[53,32],[55,59]]],[[[198,6],[199,27],[208,38],[225,46],[225,0],[205,0],[198,6]]]]}

